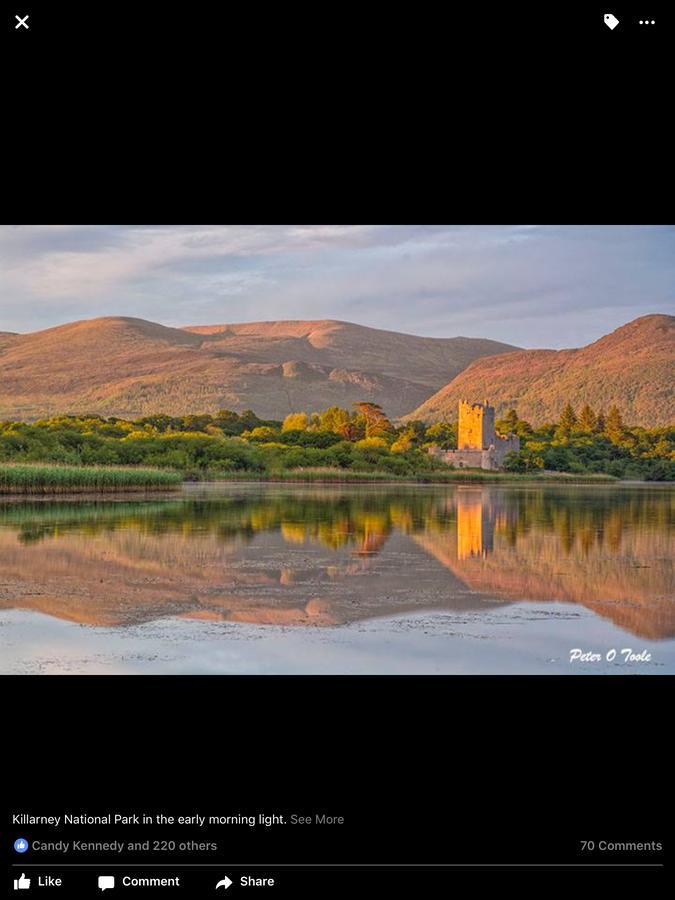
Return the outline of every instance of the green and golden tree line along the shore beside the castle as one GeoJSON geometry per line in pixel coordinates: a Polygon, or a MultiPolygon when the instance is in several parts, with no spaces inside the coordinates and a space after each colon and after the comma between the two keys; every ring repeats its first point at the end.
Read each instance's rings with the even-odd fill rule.
{"type": "MultiPolygon", "coordinates": [[[[588,404],[577,413],[566,404],[557,422],[534,428],[516,410],[496,422],[513,432],[521,450],[511,453],[511,472],[548,470],[606,473],[620,478],[675,479],[675,427],[645,429],[624,424],[616,407],[607,413],[588,404]]],[[[294,412],[283,421],[252,410],[222,409],[186,416],[55,416],[36,422],[0,422],[0,461],[71,465],[150,465],[204,471],[274,473],[299,467],[414,475],[446,469],[428,452],[457,446],[454,422],[393,423],[380,406],[294,412]]]]}

